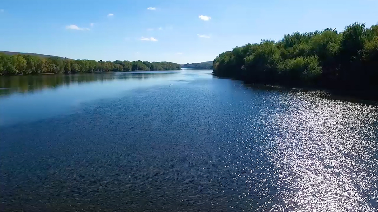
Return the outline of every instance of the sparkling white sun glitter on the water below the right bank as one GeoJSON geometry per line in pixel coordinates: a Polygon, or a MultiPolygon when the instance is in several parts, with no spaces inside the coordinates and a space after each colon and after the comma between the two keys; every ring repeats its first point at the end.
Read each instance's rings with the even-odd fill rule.
{"type": "MultiPolygon", "coordinates": [[[[277,170],[276,211],[377,209],[376,107],[289,95],[263,151],[277,170]],[[294,97],[294,98],[293,98],[294,97]],[[290,105],[290,106],[289,106],[290,105]]],[[[261,206],[260,210],[266,210],[261,206]]]]}

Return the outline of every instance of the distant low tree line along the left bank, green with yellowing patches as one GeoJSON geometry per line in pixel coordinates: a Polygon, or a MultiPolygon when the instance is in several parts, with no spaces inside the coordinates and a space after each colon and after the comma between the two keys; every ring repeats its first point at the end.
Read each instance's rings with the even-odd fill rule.
{"type": "Polygon", "coordinates": [[[60,57],[35,55],[7,55],[0,53],[0,75],[45,74],[109,71],[162,71],[180,70],[181,65],[169,62],[148,61],[96,61],[71,60],[60,57]]]}

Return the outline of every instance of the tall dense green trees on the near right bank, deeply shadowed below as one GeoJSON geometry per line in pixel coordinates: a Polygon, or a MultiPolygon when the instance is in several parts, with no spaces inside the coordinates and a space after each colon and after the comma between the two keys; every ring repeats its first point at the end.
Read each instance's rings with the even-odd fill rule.
{"type": "Polygon", "coordinates": [[[246,83],[326,88],[378,99],[378,24],[248,43],[218,55],[213,71],[246,83]]]}

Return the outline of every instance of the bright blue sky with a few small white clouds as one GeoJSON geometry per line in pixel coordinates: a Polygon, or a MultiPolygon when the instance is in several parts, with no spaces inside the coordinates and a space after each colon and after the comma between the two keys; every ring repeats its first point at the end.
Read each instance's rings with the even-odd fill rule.
{"type": "Polygon", "coordinates": [[[294,31],[370,26],[377,11],[378,0],[1,0],[0,50],[194,63],[294,31]]]}

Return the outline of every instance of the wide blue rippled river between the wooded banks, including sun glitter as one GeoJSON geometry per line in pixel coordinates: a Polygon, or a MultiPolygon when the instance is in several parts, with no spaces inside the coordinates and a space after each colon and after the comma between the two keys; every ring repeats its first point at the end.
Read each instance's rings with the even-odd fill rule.
{"type": "Polygon", "coordinates": [[[210,72],[0,77],[0,210],[378,210],[377,106],[210,72]]]}

